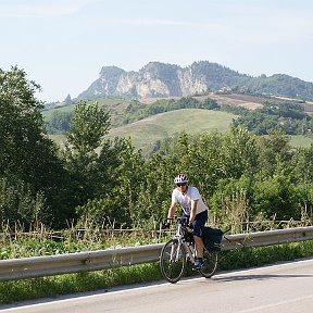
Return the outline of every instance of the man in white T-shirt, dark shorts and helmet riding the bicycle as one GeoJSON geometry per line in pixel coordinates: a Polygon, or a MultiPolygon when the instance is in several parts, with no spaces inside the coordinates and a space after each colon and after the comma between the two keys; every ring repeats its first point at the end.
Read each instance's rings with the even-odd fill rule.
{"type": "Polygon", "coordinates": [[[176,206],[183,208],[184,216],[189,220],[189,227],[193,228],[193,240],[196,243],[197,258],[193,267],[201,268],[203,258],[203,241],[201,239],[201,227],[208,220],[208,206],[203,202],[198,188],[188,186],[188,176],[179,174],[175,177],[176,188],[172,192],[172,203],[168,209],[168,218],[173,218],[176,206]]]}

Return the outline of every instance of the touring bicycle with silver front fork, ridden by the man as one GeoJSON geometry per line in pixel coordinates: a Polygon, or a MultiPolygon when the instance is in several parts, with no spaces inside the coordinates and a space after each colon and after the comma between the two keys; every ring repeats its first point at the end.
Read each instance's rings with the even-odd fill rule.
{"type": "MultiPolygon", "coordinates": [[[[166,220],[168,221],[168,218],[166,220]]],[[[196,248],[192,231],[188,230],[188,218],[177,218],[176,234],[162,248],[160,270],[162,276],[170,283],[177,283],[185,273],[186,265],[193,265],[196,248]]],[[[198,271],[203,277],[211,278],[218,262],[218,251],[203,251],[203,265],[198,271]]]]}

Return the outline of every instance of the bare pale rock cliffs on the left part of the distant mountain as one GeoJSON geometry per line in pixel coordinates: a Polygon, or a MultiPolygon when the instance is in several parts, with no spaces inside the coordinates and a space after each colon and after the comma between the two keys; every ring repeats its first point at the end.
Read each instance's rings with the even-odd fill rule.
{"type": "Polygon", "coordinates": [[[115,66],[102,67],[100,77],[82,92],[78,99],[92,99],[99,96],[183,97],[208,91],[205,76],[195,72],[192,66],[181,68],[177,65],[151,62],[139,72],[125,72],[115,66]]]}

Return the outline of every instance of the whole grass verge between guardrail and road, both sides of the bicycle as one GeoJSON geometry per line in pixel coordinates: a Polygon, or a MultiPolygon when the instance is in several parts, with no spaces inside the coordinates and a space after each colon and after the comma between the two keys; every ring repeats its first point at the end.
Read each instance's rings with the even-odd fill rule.
{"type": "MultiPolygon", "coordinates": [[[[292,242],[221,252],[220,271],[248,268],[277,261],[291,261],[313,255],[313,241],[292,242]]],[[[187,275],[192,275],[188,271],[187,275]]],[[[59,275],[0,283],[0,303],[58,297],[75,292],[107,289],[114,286],[162,279],[159,263],[124,266],[105,271],[59,275]]]]}

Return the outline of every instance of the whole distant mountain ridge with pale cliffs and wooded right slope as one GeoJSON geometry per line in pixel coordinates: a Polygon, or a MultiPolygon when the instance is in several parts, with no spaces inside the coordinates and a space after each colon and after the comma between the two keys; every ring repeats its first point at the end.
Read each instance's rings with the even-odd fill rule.
{"type": "Polygon", "coordinates": [[[208,61],[195,62],[188,67],[150,62],[139,72],[126,72],[116,66],[104,66],[100,72],[99,78],[87,90],[82,92],[76,100],[110,96],[130,97],[133,99],[186,97],[203,95],[222,88],[243,88],[251,92],[266,95],[271,95],[273,90],[279,90],[280,96],[300,96],[303,99],[313,99],[312,83],[285,76],[288,79],[284,80],[288,84],[281,82],[280,76],[280,78],[278,77],[279,79],[276,79],[275,75],[271,77],[262,75],[254,78],[208,61]],[[292,85],[291,92],[290,84],[299,85],[299,89],[296,88],[296,90],[292,85]],[[278,85],[280,88],[277,88],[278,85]],[[266,89],[263,87],[266,87],[266,89]],[[305,90],[305,93],[301,95],[299,90],[305,90]]]}

